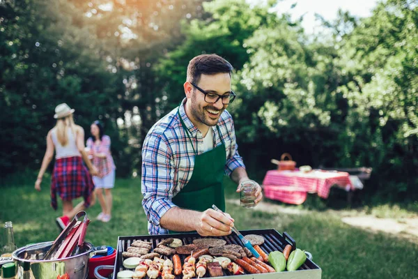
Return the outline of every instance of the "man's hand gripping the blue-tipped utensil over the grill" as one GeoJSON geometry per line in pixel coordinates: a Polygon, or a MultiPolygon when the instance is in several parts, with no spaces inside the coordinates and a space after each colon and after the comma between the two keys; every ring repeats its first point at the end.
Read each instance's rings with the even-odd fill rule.
{"type": "Polygon", "coordinates": [[[201,236],[226,236],[231,234],[234,220],[228,213],[225,213],[225,215],[213,209],[206,209],[201,213],[196,232],[201,236]]]}

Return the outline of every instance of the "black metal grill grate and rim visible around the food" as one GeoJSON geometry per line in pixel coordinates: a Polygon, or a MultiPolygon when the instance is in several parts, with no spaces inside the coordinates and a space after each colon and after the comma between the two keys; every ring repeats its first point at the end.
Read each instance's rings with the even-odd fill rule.
{"type": "MultiPolygon", "coordinates": [[[[277,230],[275,229],[251,229],[251,230],[242,230],[240,231],[242,235],[246,236],[247,234],[258,234],[264,237],[265,242],[263,243],[263,245],[261,245],[261,249],[263,249],[264,252],[266,252],[267,254],[272,252],[272,251],[281,251],[283,252],[284,247],[287,244],[291,244],[291,246],[293,247],[293,250],[296,248],[296,243],[295,241],[292,239],[291,236],[289,236],[286,232],[284,232],[284,234],[279,234],[279,232],[277,232],[277,230]]],[[[186,233],[186,234],[162,234],[162,235],[154,235],[154,236],[119,236],[118,237],[118,252],[116,254],[116,262],[115,262],[115,266],[114,266],[114,273],[113,273],[113,279],[116,279],[116,274],[118,273],[118,271],[122,271],[123,270],[123,257],[122,257],[122,252],[126,251],[128,247],[130,247],[131,243],[133,241],[137,241],[137,240],[141,240],[141,241],[150,241],[153,243],[153,248],[157,247],[157,244],[160,243],[160,241],[167,239],[169,237],[173,237],[176,239],[181,239],[183,241],[183,245],[186,244],[191,244],[193,242],[194,239],[201,239],[201,238],[205,238],[203,236],[200,236],[199,234],[196,233],[186,233]]],[[[224,241],[226,241],[227,244],[238,244],[239,246],[242,246],[242,243],[240,241],[240,239],[238,238],[238,236],[236,234],[230,234],[229,236],[208,236],[210,238],[215,238],[215,239],[223,239],[224,241]]],[[[153,249],[152,248],[152,249],[153,249]]],[[[187,255],[179,255],[182,265],[185,261],[185,258],[187,257],[187,255]]],[[[167,257],[164,256],[164,258],[167,259],[167,257]]],[[[170,259],[172,259],[172,256],[169,257],[170,259]]],[[[197,259],[196,259],[197,262],[197,259]]],[[[311,261],[311,259],[307,259],[304,264],[298,269],[298,271],[300,270],[318,270],[320,271],[319,266],[317,266],[314,262],[311,261]]],[[[232,274],[229,271],[224,270],[224,276],[232,276],[232,274]]],[[[286,273],[293,273],[295,271],[286,271],[286,273]]],[[[246,274],[247,271],[245,271],[246,274]]],[[[267,275],[267,274],[276,274],[276,273],[263,273],[263,275],[267,275]]],[[[241,275],[243,276],[243,275],[241,275]]],[[[252,278],[254,278],[254,276],[259,277],[261,276],[261,274],[251,274],[252,278]]],[[[180,276],[176,276],[176,279],[182,279],[183,275],[180,276]]],[[[203,276],[203,278],[210,278],[210,274],[209,272],[206,272],[205,276],[203,276]]],[[[277,278],[277,276],[275,276],[275,278],[277,278]]],[[[307,276],[306,278],[311,278],[310,276],[307,276]]],[[[320,278],[320,273],[319,273],[319,277],[314,277],[314,278],[320,278]]],[[[145,279],[148,279],[148,276],[146,276],[145,279]]]]}

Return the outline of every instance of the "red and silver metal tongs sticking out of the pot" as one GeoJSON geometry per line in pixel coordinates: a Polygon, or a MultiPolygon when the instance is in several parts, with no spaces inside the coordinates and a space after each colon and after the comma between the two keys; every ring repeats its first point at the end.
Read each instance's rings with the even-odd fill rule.
{"type": "Polygon", "coordinates": [[[71,223],[55,239],[43,259],[61,259],[79,254],[80,248],[84,246],[84,237],[86,236],[88,223],[90,223],[90,220],[86,211],[79,211],[71,223]],[[83,216],[83,220],[80,221],[79,218],[83,216]],[[77,247],[75,247],[76,245],[77,247]]]}

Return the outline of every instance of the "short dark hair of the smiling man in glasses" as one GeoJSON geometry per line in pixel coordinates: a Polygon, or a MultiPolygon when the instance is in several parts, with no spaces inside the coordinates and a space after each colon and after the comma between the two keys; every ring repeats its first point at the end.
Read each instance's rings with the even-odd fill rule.
{"type": "Polygon", "coordinates": [[[187,66],[187,82],[198,84],[201,75],[216,75],[219,73],[231,73],[233,66],[217,54],[201,54],[190,60],[187,66]]]}

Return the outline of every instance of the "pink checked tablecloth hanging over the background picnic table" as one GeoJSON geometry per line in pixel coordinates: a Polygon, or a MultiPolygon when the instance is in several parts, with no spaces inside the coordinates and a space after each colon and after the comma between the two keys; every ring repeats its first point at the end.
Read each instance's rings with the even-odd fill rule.
{"type": "Polygon", "coordinates": [[[277,193],[276,195],[272,195],[274,188],[277,189],[277,186],[292,186],[293,189],[298,189],[299,191],[304,190],[307,193],[318,193],[318,196],[326,199],[330,195],[330,188],[334,185],[346,190],[354,190],[348,172],[326,172],[321,170],[311,172],[279,172],[277,170],[270,170],[265,174],[263,181],[263,188],[266,192],[265,196],[272,199],[277,199],[274,198],[274,196],[277,197],[277,193]]]}

